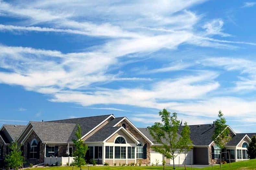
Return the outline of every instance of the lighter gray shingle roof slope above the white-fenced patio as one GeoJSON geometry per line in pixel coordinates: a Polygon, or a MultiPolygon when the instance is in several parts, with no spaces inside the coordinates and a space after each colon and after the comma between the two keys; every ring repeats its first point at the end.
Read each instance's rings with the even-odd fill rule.
{"type": "Polygon", "coordinates": [[[76,124],[55,122],[30,122],[43,142],[71,142],[76,124]]]}

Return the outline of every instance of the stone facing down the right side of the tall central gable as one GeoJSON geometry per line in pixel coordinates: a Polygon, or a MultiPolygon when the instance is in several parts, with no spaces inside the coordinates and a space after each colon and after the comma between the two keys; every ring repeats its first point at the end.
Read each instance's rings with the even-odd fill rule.
{"type": "Polygon", "coordinates": [[[117,126],[120,127],[120,126],[122,126],[122,124],[125,124],[125,127],[126,127],[125,129],[129,133],[131,133],[139,142],[141,142],[143,146],[145,144],[147,144],[147,158],[146,159],[137,159],[136,162],[139,163],[141,161],[142,164],[150,164],[150,144],[125,120],[123,120],[117,126]]]}

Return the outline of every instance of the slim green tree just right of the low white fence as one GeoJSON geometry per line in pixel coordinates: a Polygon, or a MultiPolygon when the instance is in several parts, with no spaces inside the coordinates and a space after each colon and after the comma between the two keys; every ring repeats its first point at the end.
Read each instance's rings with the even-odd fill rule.
{"type": "Polygon", "coordinates": [[[80,170],[82,169],[82,165],[86,165],[85,162],[85,155],[88,150],[88,146],[84,144],[84,141],[81,139],[82,138],[82,132],[81,132],[81,127],[80,125],[77,126],[77,131],[76,131],[76,138],[73,139],[75,151],[74,151],[74,164],[76,167],[79,167],[80,170]]]}

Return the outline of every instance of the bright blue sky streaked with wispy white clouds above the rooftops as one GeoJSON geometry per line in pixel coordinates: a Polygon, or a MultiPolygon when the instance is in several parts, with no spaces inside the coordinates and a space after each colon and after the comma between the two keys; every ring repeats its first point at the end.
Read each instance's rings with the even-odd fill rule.
{"type": "Polygon", "coordinates": [[[256,132],[256,1],[0,0],[0,125],[177,112],[256,132]]]}

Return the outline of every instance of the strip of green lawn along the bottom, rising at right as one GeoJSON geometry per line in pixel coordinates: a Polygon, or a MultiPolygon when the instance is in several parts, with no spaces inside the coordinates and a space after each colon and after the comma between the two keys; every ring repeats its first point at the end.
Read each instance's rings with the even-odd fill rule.
{"type": "MultiPolygon", "coordinates": [[[[82,170],[87,170],[87,166],[83,166],[82,170]]],[[[157,170],[163,169],[163,166],[90,166],[89,170],[157,170]]],[[[166,170],[171,170],[172,166],[166,166],[166,170]]],[[[191,170],[191,165],[187,166],[188,170],[191,170]]],[[[214,170],[220,170],[219,165],[213,166],[214,170]]],[[[72,166],[56,166],[56,167],[44,167],[36,168],[36,170],[73,170],[72,166]]],[[[74,170],[79,170],[79,168],[74,167],[74,170]]],[[[184,167],[176,167],[176,170],[184,170],[184,167]]],[[[193,170],[212,170],[212,167],[205,168],[193,168],[193,170]]],[[[256,159],[234,162],[231,163],[231,168],[229,164],[222,165],[221,170],[256,170],[256,159]]]]}

